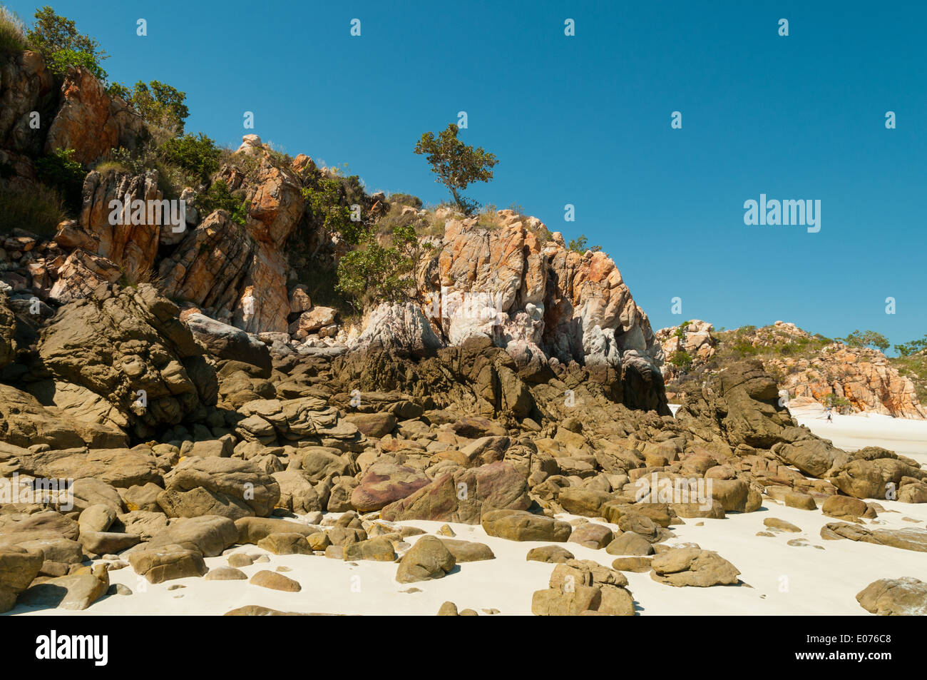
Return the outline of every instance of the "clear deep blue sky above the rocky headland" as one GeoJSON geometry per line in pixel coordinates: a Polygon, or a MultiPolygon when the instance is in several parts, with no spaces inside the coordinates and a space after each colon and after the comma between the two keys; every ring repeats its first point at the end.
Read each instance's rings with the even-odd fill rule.
{"type": "MultiPolygon", "coordinates": [[[[35,8],[7,6],[27,22],[35,8]]],[[[467,111],[461,137],[500,160],[468,194],[601,245],[654,328],[781,319],[830,337],[927,332],[925,3],[52,6],[108,50],[112,80],[185,91],[189,131],[234,145],[255,132],[348,162],[369,190],[443,199],[413,146],[467,111]],[[820,232],[744,225],[743,201],[761,193],[820,199],[820,232]]]]}

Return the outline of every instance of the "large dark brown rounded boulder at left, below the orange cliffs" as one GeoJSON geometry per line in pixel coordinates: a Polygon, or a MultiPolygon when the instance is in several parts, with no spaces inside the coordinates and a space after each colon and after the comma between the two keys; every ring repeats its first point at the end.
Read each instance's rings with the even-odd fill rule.
{"type": "MultiPolygon", "coordinates": [[[[73,302],[43,328],[33,371],[94,394],[124,418],[104,424],[137,437],[205,417],[216,403],[215,372],[179,314],[146,285],[73,302]]],[[[57,391],[50,398],[85,417],[78,404],[58,404],[57,391]]]]}

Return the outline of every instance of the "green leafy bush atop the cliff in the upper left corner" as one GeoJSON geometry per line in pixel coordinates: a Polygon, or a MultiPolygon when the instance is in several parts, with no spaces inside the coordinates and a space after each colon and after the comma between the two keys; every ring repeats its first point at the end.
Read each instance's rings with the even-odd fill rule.
{"type": "Polygon", "coordinates": [[[108,77],[100,63],[108,58],[99,43],[78,32],[71,19],[61,17],[50,6],[35,11],[35,22],[26,34],[30,45],[42,52],[49,71],[64,76],[69,66],[83,66],[100,81],[108,77]]]}

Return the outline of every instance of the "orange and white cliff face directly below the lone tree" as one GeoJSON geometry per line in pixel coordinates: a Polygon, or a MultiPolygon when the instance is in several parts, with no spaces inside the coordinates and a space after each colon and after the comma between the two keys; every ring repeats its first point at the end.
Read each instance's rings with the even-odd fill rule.
{"type": "Polygon", "coordinates": [[[499,215],[496,230],[448,220],[439,250],[418,270],[420,303],[377,308],[352,346],[421,356],[436,342],[488,339],[522,375],[552,374],[551,358],[578,362],[617,401],[668,413],[663,350],[615,263],[542,242],[540,223],[499,215]]]}

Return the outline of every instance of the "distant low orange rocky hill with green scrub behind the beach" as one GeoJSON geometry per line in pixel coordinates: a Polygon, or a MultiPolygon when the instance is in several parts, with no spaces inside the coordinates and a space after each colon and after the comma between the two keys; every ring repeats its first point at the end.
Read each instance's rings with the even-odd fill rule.
{"type": "Polygon", "coordinates": [[[849,347],[812,335],[794,324],[777,321],[718,332],[692,319],[661,328],[656,337],[667,357],[663,375],[670,400],[699,389],[725,366],[756,357],[791,398],[858,412],[927,418],[920,383],[914,381],[919,377],[899,360],[869,347],[849,347]]]}

